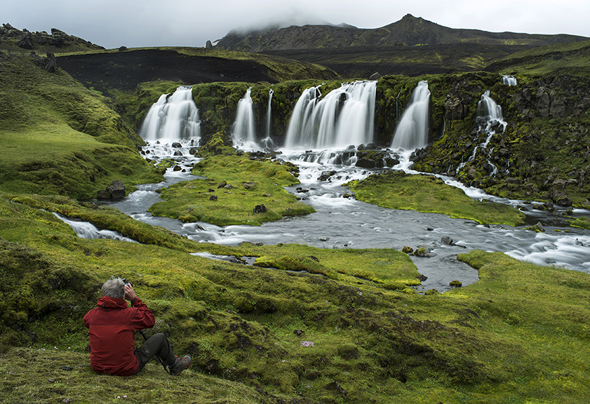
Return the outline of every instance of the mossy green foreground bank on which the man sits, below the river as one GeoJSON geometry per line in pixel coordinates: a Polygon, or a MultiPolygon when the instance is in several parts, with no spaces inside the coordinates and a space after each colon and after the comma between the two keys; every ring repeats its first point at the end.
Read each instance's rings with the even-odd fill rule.
{"type": "MultiPolygon", "coordinates": [[[[83,353],[87,340],[81,317],[93,307],[100,284],[111,274],[132,280],[156,314],[154,331],[168,333],[177,351],[192,354],[194,365],[182,374],[183,391],[189,394],[178,396],[180,403],[185,402],[182,397],[202,394],[190,393],[196,381],[232,389],[253,386],[285,399],[297,395],[327,403],[583,403],[586,398],[587,274],[525,264],[500,253],[473,252],[461,259],[480,269],[481,281],[443,295],[408,295],[368,281],[367,274],[334,279],[194,257],[189,252],[213,245],[188,240],[186,248],[175,250],[85,240],[39,208],[51,208],[51,203],[66,211],[92,208],[71,201],[67,209],[67,198],[52,201],[41,196],[27,196],[22,203],[0,201],[0,267],[7,279],[1,301],[5,313],[14,311],[3,318],[4,351],[8,346],[47,349],[34,354],[46,358],[42,361],[48,366],[55,364],[47,371],[58,372],[52,377],[58,385],[37,383],[34,367],[28,373],[23,367],[10,367],[14,355],[27,363],[32,352],[10,349],[2,366],[3,386],[16,389],[6,390],[11,400],[14,391],[22,391],[16,384],[25,376],[27,384],[36,386],[28,390],[34,394],[32,402],[76,394],[81,402],[104,401],[115,389],[122,396],[123,391],[135,391],[134,386],[145,386],[146,380],[175,389],[176,382],[166,382],[163,370],[153,363],[138,377],[114,378],[119,380],[116,385],[106,378],[103,390],[79,391],[93,375],[88,368],[76,368],[81,358],[88,358],[83,353]],[[4,225],[6,221],[12,225],[4,225]],[[62,365],[74,370],[62,373],[62,365]]],[[[131,221],[109,209],[105,215],[131,221]]],[[[146,238],[168,237],[158,228],[144,231],[152,234],[146,238]]],[[[388,267],[389,279],[397,273],[403,282],[415,274],[413,267],[395,264],[404,262],[396,258],[403,254],[392,250],[216,248],[216,253],[255,253],[277,260],[312,256],[317,261],[311,261],[333,267],[336,274],[357,266],[375,270],[373,276],[383,281],[388,267]]],[[[151,391],[136,393],[144,394],[143,400],[155,400],[151,391]]]]}

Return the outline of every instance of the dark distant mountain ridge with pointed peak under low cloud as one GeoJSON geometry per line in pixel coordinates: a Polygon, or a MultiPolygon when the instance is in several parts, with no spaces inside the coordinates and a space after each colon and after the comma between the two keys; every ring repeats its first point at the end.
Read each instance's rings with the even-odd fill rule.
{"type": "Polygon", "coordinates": [[[438,45],[445,43],[478,43],[480,45],[544,46],[551,43],[584,41],[574,35],[517,34],[514,32],[486,32],[478,29],[443,27],[423,18],[405,15],[398,22],[375,29],[359,29],[350,25],[295,25],[271,27],[253,32],[229,32],[215,44],[215,48],[244,52],[267,52],[348,46],[438,45]]]}

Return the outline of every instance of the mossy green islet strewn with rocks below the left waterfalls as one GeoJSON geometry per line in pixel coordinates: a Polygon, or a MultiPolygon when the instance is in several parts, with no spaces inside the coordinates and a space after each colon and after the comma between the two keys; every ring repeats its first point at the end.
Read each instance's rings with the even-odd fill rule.
{"type": "Polygon", "coordinates": [[[164,201],[154,203],[149,212],[183,222],[203,221],[219,226],[257,225],[315,212],[283,188],[299,183],[292,170],[292,166],[279,161],[254,161],[248,155],[210,156],[193,168],[193,174],[206,178],[162,189],[164,201]],[[254,213],[255,206],[260,205],[267,211],[254,213]]]}

